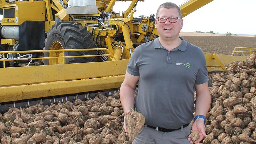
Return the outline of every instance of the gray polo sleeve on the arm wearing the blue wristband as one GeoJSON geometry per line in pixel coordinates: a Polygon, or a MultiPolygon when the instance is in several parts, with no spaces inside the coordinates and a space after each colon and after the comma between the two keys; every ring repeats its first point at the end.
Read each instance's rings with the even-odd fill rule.
{"type": "Polygon", "coordinates": [[[206,67],[206,60],[203,52],[201,51],[199,54],[200,58],[200,65],[199,65],[199,70],[196,78],[196,84],[203,84],[208,81],[208,71],[206,67]]]}

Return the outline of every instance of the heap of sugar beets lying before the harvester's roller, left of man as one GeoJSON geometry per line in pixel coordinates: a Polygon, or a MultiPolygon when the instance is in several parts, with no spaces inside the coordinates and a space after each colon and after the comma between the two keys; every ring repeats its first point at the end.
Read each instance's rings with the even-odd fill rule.
{"type": "Polygon", "coordinates": [[[10,108],[0,115],[1,144],[131,144],[119,93],[87,101],[10,108]]]}

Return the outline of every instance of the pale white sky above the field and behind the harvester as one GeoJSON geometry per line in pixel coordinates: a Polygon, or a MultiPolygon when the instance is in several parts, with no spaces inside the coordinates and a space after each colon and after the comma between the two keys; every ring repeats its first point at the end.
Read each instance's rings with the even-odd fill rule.
{"type": "MultiPolygon", "coordinates": [[[[187,0],[145,0],[138,2],[133,17],[156,15],[157,8],[164,2],[178,6],[187,0]]],[[[125,11],[130,2],[116,2],[115,12],[125,11]]],[[[184,17],[183,32],[208,32],[226,34],[256,34],[256,0],[214,0],[184,17]]]]}

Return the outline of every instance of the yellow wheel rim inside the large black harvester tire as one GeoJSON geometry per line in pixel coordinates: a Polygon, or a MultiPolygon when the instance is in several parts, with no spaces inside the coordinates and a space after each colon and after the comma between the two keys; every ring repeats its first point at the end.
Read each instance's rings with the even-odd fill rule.
{"type": "MultiPolygon", "coordinates": [[[[52,43],[50,50],[61,50],[63,49],[60,42],[55,41],[52,43]]],[[[49,52],[49,57],[61,57],[64,56],[64,52],[49,52]]],[[[49,65],[53,64],[65,64],[64,58],[49,59],[49,65]]]]}

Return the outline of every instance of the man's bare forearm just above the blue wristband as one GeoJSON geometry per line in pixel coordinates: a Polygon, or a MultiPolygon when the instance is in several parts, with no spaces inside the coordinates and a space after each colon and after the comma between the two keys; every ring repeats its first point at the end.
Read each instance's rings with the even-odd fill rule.
{"type": "Polygon", "coordinates": [[[196,96],[196,115],[206,116],[211,104],[211,95],[209,91],[204,91],[196,96]]]}

